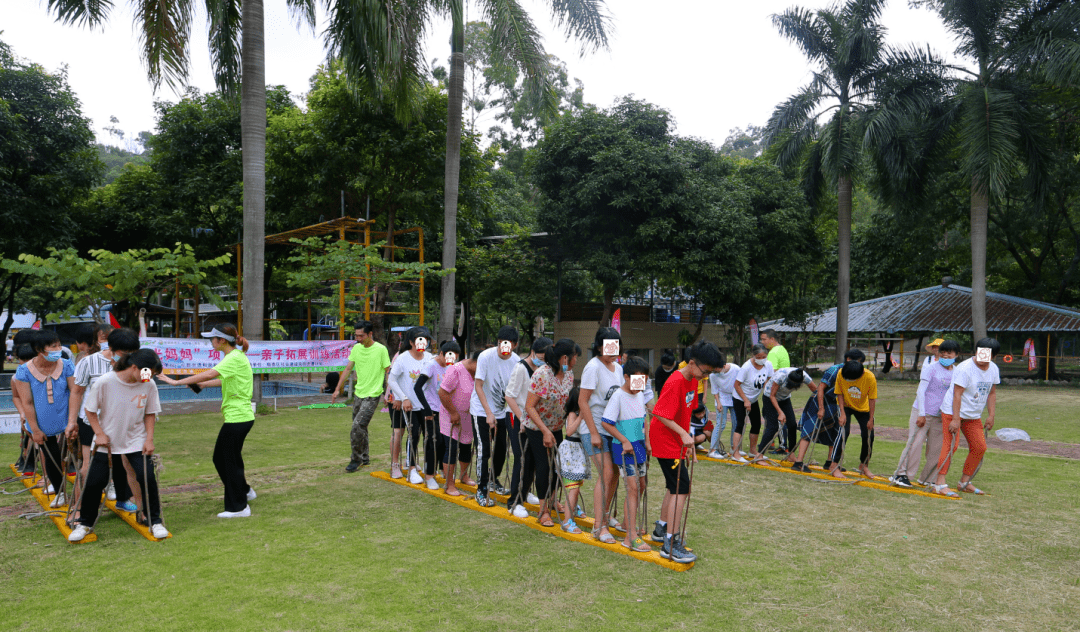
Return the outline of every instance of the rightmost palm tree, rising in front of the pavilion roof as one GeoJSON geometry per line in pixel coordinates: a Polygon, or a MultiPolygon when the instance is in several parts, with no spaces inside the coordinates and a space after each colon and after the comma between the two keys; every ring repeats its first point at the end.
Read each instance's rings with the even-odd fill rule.
{"type": "Polygon", "coordinates": [[[1048,106],[1039,92],[1080,79],[1080,6],[1070,0],[923,0],[954,35],[953,94],[940,123],[954,131],[960,167],[971,180],[971,319],[986,336],[986,238],[989,205],[1018,177],[1045,191],[1048,106]]]}

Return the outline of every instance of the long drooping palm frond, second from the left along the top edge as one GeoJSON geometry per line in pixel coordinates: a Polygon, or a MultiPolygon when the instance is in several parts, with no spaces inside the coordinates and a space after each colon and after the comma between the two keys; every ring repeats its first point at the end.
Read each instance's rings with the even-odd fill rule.
{"type": "Polygon", "coordinates": [[[143,62],[154,90],[162,81],[174,90],[187,82],[193,13],[193,0],[138,1],[135,26],[139,31],[143,62]]]}

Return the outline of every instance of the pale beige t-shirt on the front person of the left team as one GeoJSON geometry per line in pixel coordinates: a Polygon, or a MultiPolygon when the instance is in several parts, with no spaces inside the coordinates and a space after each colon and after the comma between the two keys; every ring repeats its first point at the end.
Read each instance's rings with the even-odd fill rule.
{"type": "MultiPolygon", "coordinates": [[[[97,421],[112,443],[112,454],[143,452],[144,419],[161,412],[158,385],[153,380],[129,384],[110,371],[90,388],[83,409],[97,413],[97,421]]],[[[104,447],[96,449],[106,452],[104,447]]]]}

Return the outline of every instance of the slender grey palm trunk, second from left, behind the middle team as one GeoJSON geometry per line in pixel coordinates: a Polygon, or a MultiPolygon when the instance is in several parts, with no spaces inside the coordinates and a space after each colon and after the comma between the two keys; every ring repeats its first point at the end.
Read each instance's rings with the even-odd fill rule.
{"type": "MultiPolygon", "coordinates": [[[[457,4],[459,9],[463,4],[457,4]]],[[[443,190],[443,269],[458,260],[458,177],[461,170],[461,102],[464,98],[465,25],[464,16],[455,11],[454,33],[450,36],[450,84],[446,106],[446,176],[443,190]]],[[[440,340],[454,335],[455,273],[443,277],[438,302],[440,340]]]]}

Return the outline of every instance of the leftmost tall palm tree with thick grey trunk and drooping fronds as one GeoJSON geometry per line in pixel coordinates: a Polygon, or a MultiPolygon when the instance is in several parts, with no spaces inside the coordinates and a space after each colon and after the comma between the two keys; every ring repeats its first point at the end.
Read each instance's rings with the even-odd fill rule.
{"type": "MultiPolygon", "coordinates": [[[[314,29],[315,0],[285,0],[302,24],[314,29]]],[[[143,60],[154,90],[164,81],[183,85],[188,76],[188,40],[194,17],[192,0],[134,0],[143,60]]],[[[401,111],[408,110],[422,59],[416,19],[422,13],[400,0],[322,0],[330,15],[324,33],[329,56],[340,59],[359,89],[392,86],[401,111]]],[[[252,339],[262,338],[266,237],[266,56],[262,0],[205,0],[211,62],[219,90],[241,99],[243,145],[243,323],[252,339]],[[241,44],[242,42],[242,44],[241,44]]],[[[67,25],[102,25],[110,0],[49,0],[49,11],[67,25]]]]}

